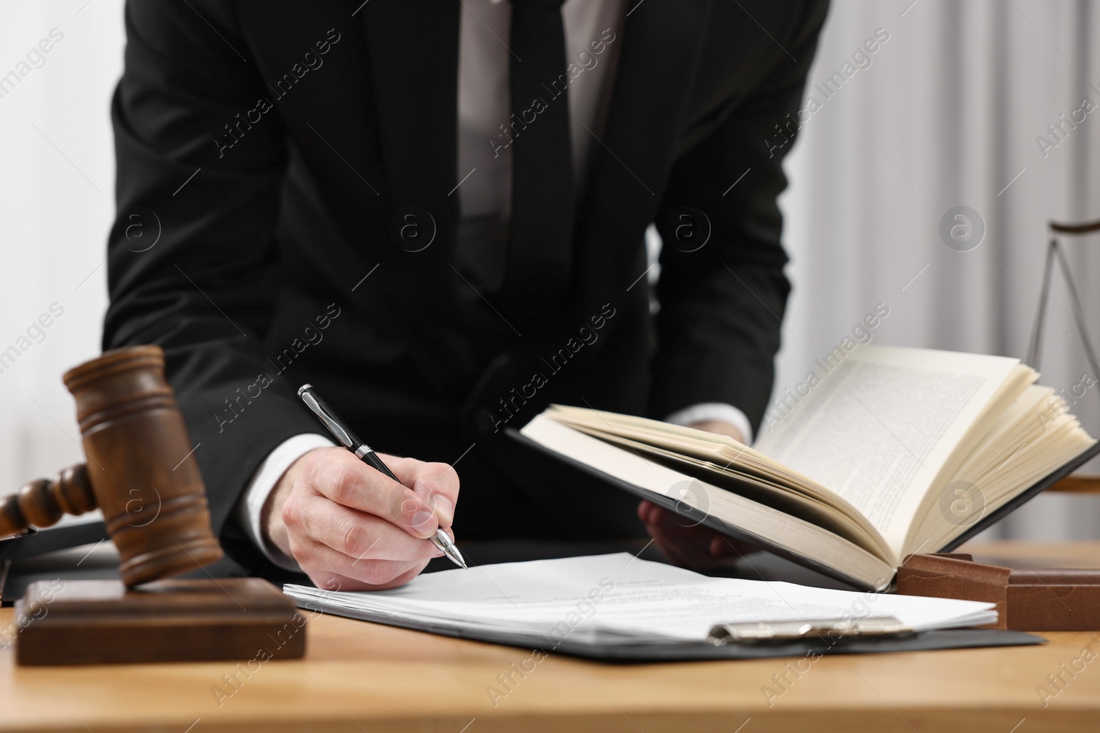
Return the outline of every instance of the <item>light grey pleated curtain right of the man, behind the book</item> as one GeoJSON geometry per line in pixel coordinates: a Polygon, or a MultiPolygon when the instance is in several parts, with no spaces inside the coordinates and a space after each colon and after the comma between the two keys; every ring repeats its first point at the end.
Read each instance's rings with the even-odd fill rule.
{"type": "MultiPolygon", "coordinates": [[[[787,165],[795,290],[778,392],[878,303],[890,315],[875,343],[1025,356],[1047,221],[1100,219],[1098,38],[1100,5],[1087,0],[834,0],[806,90],[822,104],[802,115],[787,165]],[[878,29],[889,40],[867,54],[870,66],[858,59],[866,68],[834,81],[826,100],[814,85],[878,29]],[[1047,125],[1085,98],[1098,109],[1058,142],[1047,125]],[[1057,145],[1041,148],[1040,136],[1057,145]],[[939,233],[959,206],[985,221],[966,252],[939,233]]],[[[1100,236],[1064,242],[1097,343],[1100,236]]],[[[1069,392],[1100,368],[1086,360],[1060,275],[1046,310],[1042,384],[1069,392]]],[[[1100,435],[1100,386],[1072,412],[1100,435]]],[[[996,533],[1097,538],[1100,499],[1041,496],[996,533]]]]}

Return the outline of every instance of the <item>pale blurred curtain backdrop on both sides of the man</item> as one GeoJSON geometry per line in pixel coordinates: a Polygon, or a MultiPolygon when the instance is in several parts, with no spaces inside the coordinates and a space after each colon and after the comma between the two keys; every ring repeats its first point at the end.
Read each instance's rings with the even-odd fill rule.
{"type": "MultiPolygon", "coordinates": [[[[1025,356],[1047,222],[1100,219],[1098,38],[1091,0],[833,1],[787,162],[777,393],[879,303],[875,343],[1025,356]],[[976,246],[942,238],[956,207],[977,213],[976,246]]],[[[80,459],[61,374],[99,353],[123,45],[122,0],[0,0],[0,352],[20,349],[0,363],[4,490],[80,459]]],[[[1063,242],[1100,342],[1100,236],[1063,242]]],[[[1044,319],[1042,381],[1069,392],[1098,368],[1057,273],[1044,319]]],[[[1071,410],[1100,435],[1100,385],[1071,410]]],[[[1041,496],[990,533],[1100,538],[1100,498],[1041,496]]]]}

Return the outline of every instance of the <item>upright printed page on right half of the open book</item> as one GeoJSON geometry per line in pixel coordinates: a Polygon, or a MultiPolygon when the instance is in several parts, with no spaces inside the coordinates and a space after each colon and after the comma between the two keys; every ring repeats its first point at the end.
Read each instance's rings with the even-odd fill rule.
{"type": "Polygon", "coordinates": [[[847,499],[900,553],[928,486],[1018,364],[861,346],[790,399],[754,447],[847,499]]]}

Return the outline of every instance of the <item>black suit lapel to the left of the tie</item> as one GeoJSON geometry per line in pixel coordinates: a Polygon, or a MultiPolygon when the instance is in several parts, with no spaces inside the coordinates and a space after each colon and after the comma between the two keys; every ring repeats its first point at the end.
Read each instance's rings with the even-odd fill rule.
{"type": "MultiPolygon", "coordinates": [[[[457,0],[374,0],[355,20],[363,33],[370,107],[377,122],[385,174],[387,224],[381,243],[391,255],[381,306],[399,331],[416,334],[409,353],[448,392],[463,389],[480,368],[451,307],[452,249],[458,230],[457,0]],[[436,233],[430,245],[403,252],[393,241],[393,221],[406,207],[427,210],[436,233]]],[[[422,235],[422,232],[421,232],[422,235]]]]}

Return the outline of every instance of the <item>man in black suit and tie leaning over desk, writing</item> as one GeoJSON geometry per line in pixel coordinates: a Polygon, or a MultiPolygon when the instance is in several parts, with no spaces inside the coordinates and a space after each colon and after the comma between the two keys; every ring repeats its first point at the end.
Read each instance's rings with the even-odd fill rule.
{"type": "MultiPolygon", "coordinates": [[[[789,292],[780,163],[825,11],[129,3],[103,345],[164,347],[227,548],[399,585],[453,520],[447,464],[463,538],[638,532],[628,495],[505,435],[549,402],[749,440],[789,292]],[[386,457],[404,486],[326,447],[306,381],[415,456],[386,457]]],[[[729,552],[637,518],[676,562],[729,552]]]]}

